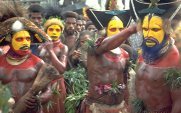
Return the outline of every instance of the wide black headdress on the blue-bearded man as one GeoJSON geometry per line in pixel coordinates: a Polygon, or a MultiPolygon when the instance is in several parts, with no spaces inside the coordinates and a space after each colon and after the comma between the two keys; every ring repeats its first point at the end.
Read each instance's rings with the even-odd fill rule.
{"type": "Polygon", "coordinates": [[[171,21],[177,18],[180,10],[181,0],[130,0],[130,12],[135,21],[151,13],[171,21]]]}

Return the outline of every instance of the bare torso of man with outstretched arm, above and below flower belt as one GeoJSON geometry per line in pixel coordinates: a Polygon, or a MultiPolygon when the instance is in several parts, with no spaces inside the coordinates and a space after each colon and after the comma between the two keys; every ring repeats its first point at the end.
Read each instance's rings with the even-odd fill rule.
{"type": "Polygon", "coordinates": [[[116,105],[122,101],[122,94],[100,94],[95,88],[100,85],[110,85],[115,82],[117,84],[124,84],[123,71],[128,57],[128,53],[123,49],[121,49],[121,54],[107,52],[102,55],[96,55],[88,53],[87,68],[90,82],[88,99],[93,102],[108,105],[116,105]]]}

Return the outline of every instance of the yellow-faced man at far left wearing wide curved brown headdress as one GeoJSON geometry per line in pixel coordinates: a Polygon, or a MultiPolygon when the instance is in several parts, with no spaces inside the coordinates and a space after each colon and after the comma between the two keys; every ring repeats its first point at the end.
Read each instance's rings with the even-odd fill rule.
{"type": "Polygon", "coordinates": [[[46,33],[23,17],[7,19],[0,25],[0,34],[3,35],[0,37],[0,45],[10,46],[8,52],[0,56],[0,82],[10,88],[15,100],[13,110],[16,109],[19,100],[23,99],[21,104],[25,106],[25,109],[24,111],[16,109],[16,113],[42,113],[40,105],[48,102],[51,97],[49,86],[41,90],[38,94],[39,98],[36,94],[24,97],[25,93],[31,90],[38,73],[42,71],[42,66],[45,64],[43,60],[31,53],[31,43],[38,41],[32,39],[31,33],[39,34],[41,41],[48,38],[46,33]]]}

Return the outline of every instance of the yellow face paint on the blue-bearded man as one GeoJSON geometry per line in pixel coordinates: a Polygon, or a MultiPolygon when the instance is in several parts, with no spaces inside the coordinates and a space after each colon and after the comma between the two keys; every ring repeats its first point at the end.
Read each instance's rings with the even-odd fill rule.
{"type": "MultiPolygon", "coordinates": [[[[146,16],[142,24],[143,36],[144,38],[154,38],[160,44],[164,39],[164,29],[163,29],[163,20],[159,16],[152,16],[149,19],[149,16],[146,16]]],[[[147,41],[146,45],[148,47],[153,47],[156,45],[153,41],[147,41]]]]}

